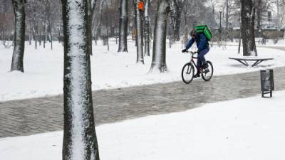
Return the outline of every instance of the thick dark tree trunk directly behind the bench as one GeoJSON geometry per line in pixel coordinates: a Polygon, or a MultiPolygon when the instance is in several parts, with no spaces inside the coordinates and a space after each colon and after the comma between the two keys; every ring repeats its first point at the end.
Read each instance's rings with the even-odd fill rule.
{"type": "Polygon", "coordinates": [[[241,0],[242,5],[242,47],[244,56],[257,56],[254,38],[254,0],[241,0]]]}

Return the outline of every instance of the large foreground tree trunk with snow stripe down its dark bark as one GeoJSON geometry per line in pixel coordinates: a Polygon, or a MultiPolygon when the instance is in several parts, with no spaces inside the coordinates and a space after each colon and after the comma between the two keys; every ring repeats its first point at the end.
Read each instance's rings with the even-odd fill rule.
{"type": "Polygon", "coordinates": [[[91,92],[88,0],[61,0],[64,35],[63,160],[98,160],[91,92]]]}

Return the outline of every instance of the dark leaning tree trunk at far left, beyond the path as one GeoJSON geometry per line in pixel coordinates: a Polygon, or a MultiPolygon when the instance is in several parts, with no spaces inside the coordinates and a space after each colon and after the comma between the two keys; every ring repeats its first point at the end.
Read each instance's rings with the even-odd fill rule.
{"type": "Polygon", "coordinates": [[[11,71],[19,70],[24,73],[24,50],[25,50],[25,3],[24,0],[12,0],[15,28],[14,28],[14,50],[11,71]]]}

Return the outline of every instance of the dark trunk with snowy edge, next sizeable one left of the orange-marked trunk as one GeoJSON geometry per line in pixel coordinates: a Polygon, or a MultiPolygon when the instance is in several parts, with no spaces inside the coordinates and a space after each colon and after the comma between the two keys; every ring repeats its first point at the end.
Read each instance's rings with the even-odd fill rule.
{"type": "Polygon", "coordinates": [[[118,52],[128,52],[127,36],[128,36],[128,1],[120,0],[120,35],[119,35],[118,52]]]}

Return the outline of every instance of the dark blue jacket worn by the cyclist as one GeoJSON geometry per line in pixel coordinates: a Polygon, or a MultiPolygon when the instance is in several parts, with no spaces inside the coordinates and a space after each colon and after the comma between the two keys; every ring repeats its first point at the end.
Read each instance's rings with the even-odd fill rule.
{"type": "Polygon", "coordinates": [[[198,33],[196,38],[191,38],[190,41],[187,43],[186,50],[189,49],[195,41],[197,44],[198,51],[209,48],[209,43],[206,36],[204,36],[203,33],[198,33]]]}

